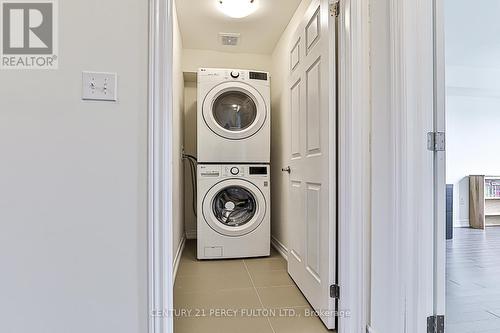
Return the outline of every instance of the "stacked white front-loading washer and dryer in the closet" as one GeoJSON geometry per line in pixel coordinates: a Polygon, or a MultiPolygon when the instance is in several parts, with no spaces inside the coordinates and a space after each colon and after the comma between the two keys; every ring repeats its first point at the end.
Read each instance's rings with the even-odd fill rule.
{"type": "Polygon", "coordinates": [[[268,256],[270,78],[198,70],[198,259],[268,256]]]}

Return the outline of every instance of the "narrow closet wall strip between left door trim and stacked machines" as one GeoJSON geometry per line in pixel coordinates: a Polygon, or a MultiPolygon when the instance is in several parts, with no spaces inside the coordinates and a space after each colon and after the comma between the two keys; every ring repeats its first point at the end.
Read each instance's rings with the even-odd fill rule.
{"type": "MultiPolygon", "coordinates": [[[[184,75],[182,73],[182,36],[179,30],[179,21],[175,1],[173,1],[173,253],[179,252],[184,237],[184,167],[182,160],[182,146],[184,144],[184,75]]],[[[179,253],[180,254],[180,253],[179,253]]],[[[174,257],[175,264],[175,257],[174,257]]]]}

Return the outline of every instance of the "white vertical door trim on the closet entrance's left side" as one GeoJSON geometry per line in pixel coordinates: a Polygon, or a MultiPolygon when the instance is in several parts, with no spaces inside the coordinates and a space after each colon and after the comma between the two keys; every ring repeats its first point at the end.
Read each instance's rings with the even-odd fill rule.
{"type": "Polygon", "coordinates": [[[173,333],[172,0],[149,6],[148,332],[173,333]]]}

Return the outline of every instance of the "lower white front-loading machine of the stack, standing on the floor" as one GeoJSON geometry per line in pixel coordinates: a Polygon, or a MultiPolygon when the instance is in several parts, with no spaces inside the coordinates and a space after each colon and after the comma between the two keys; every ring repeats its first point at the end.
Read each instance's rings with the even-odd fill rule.
{"type": "Polygon", "coordinates": [[[198,259],[270,254],[269,165],[198,165],[198,259]]]}

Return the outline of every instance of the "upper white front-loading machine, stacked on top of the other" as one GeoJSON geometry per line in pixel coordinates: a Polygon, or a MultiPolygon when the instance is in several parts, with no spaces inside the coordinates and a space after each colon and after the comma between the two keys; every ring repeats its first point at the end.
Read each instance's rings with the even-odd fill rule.
{"type": "Polygon", "coordinates": [[[269,163],[267,72],[198,70],[198,163],[269,163]]]}

